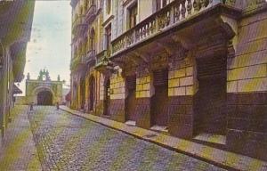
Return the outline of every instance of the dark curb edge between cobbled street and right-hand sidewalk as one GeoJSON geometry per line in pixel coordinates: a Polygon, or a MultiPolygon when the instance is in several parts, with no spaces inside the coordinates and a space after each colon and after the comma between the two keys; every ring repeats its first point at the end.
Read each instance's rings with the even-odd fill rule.
{"type": "MultiPolygon", "coordinates": [[[[95,120],[90,119],[90,118],[86,118],[86,117],[84,117],[84,116],[78,115],[78,114],[76,114],[76,113],[74,113],[74,112],[71,112],[71,111],[69,111],[69,110],[64,110],[64,109],[61,109],[61,108],[60,108],[60,110],[66,111],[66,112],[68,112],[68,113],[70,113],[70,114],[72,114],[72,115],[74,115],[74,116],[79,117],[79,118],[85,118],[85,119],[90,120],[90,121],[92,121],[92,122],[94,122],[94,123],[97,123],[97,124],[99,124],[99,125],[101,125],[101,126],[106,126],[106,127],[109,127],[109,128],[111,128],[111,129],[113,129],[113,130],[117,130],[117,131],[120,131],[120,132],[122,132],[122,133],[131,135],[131,136],[134,136],[135,138],[138,138],[138,139],[140,139],[140,140],[143,140],[143,141],[146,141],[146,142],[154,143],[154,144],[156,144],[156,145],[158,145],[158,146],[161,146],[161,147],[163,147],[163,148],[166,148],[166,149],[168,149],[168,150],[170,150],[170,151],[176,151],[176,152],[178,152],[178,153],[182,153],[182,154],[184,154],[184,155],[190,156],[191,158],[195,158],[195,159],[199,159],[199,160],[205,161],[206,163],[212,164],[212,165],[214,165],[214,166],[216,166],[216,167],[221,167],[221,168],[223,168],[223,169],[226,169],[226,170],[232,170],[232,171],[238,171],[238,170],[239,170],[239,169],[237,169],[237,168],[230,167],[230,166],[228,166],[228,165],[225,165],[225,164],[223,164],[223,163],[216,162],[216,161],[214,161],[214,160],[205,159],[205,158],[203,158],[203,157],[200,157],[200,156],[196,155],[195,153],[190,153],[190,152],[182,151],[182,150],[176,149],[176,148],[174,148],[174,147],[172,147],[172,146],[168,146],[168,145],[166,145],[166,144],[163,144],[163,143],[160,143],[160,142],[157,142],[157,141],[153,141],[153,140],[144,138],[144,137],[139,136],[139,135],[137,135],[137,134],[133,134],[133,133],[127,132],[127,131],[125,131],[125,130],[123,130],[123,129],[118,129],[118,128],[113,127],[113,126],[105,125],[105,124],[103,124],[103,123],[101,123],[101,122],[95,121],[95,120]]],[[[89,114],[89,115],[90,115],[90,114],[89,114]]]]}

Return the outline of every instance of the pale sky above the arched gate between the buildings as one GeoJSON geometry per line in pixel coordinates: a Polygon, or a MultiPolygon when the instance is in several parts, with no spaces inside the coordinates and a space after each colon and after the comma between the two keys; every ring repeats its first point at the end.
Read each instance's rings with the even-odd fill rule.
{"type": "MultiPolygon", "coordinates": [[[[25,79],[38,77],[40,69],[48,69],[52,80],[70,79],[71,56],[71,6],[70,1],[36,0],[31,38],[26,53],[25,79]]],[[[19,87],[25,94],[25,79],[19,87]]],[[[65,86],[66,86],[65,85],[65,86]]]]}

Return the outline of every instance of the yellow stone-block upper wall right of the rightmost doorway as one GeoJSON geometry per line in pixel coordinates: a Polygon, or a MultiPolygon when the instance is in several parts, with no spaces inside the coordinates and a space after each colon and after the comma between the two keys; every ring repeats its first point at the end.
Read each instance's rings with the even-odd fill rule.
{"type": "Polygon", "coordinates": [[[267,91],[267,12],[241,20],[227,75],[228,93],[267,91]]]}

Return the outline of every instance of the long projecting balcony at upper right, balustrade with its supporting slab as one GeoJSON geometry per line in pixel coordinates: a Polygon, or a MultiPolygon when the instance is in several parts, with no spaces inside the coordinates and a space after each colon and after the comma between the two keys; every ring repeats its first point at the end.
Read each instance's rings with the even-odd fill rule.
{"type": "Polygon", "coordinates": [[[193,39],[192,37],[198,37],[197,34],[199,34],[194,34],[194,30],[198,30],[196,28],[203,28],[203,25],[207,24],[206,30],[220,27],[219,24],[214,26],[214,20],[219,19],[217,13],[230,13],[232,16],[240,13],[240,10],[232,7],[233,4],[231,3],[226,5],[221,3],[220,0],[200,2],[197,0],[174,0],[158,12],[153,13],[111,42],[111,58],[132,51],[134,48],[144,45],[144,43],[150,44],[153,42],[152,39],[175,34],[179,30],[183,31],[179,37],[193,39]],[[205,21],[202,22],[202,20],[205,21]]]}

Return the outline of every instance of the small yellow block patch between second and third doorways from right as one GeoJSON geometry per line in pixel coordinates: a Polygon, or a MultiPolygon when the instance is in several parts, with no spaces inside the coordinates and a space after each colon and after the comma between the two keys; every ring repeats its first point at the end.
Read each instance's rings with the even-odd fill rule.
{"type": "Polygon", "coordinates": [[[136,98],[144,98],[151,96],[151,77],[137,77],[136,78],[136,98]]]}

